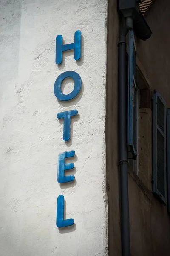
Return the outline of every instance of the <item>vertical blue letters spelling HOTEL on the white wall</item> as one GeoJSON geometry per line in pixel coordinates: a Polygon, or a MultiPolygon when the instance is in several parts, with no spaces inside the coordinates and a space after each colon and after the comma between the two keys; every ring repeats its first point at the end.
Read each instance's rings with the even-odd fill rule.
{"type": "MultiPolygon", "coordinates": [[[[62,62],[62,52],[68,50],[74,50],[74,59],[79,60],[81,58],[81,31],[76,31],[74,34],[74,43],[62,44],[62,35],[57,35],[56,37],[56,64],[61,64],[62,62]]],[[[54,83],[54,94],[57,99],[62,101],[68,101],[76,97],[82,85],[82,79],[79,74],[75,71],[67,71],[60,74],[54,83]],[[72,78],[74,80],[74,89],[69,94],[64,94],[61,91],[62,81],[66,78],[72,78]]],[[[57,114],[57,118],[64,119],[63,127],[63,140],[68,141],[70,139],[70,128],[71,128],[71,118],[76,116],[78,113],[77,109],[70,111],[64,111],[57,114]]],[[[66,151],[58,155],[58,173],[57,181],[59,183],[71,182],[75,179],[74,175],[65,176],[65,170],[71,170],[74,168],[74,163],[65,163],[65,158],[74,157],[75,151],[66,151]]],[[[68,227],[74,224],[74,219],[64,220],[64,195],[59,195],[57,198],[57,227],[68,227]]]]}

